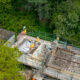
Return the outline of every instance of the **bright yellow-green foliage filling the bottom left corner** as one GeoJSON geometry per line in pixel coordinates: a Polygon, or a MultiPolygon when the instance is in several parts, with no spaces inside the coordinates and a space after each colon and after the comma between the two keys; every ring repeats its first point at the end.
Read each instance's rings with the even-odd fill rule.
{"type": "Polygon", "coordinates": [[[0,80],[25,80],[19,73],[20,56],[17,48],[9,48],[0,44],[0,80]]]}

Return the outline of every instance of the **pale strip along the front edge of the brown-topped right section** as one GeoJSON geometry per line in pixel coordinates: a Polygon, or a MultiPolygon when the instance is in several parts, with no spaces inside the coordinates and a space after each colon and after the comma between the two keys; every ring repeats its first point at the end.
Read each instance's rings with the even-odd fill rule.
{"type": "MultiPolygon", "coordinates": [[[[69,71],[66,71],[66,70],[61,70],[60,72],[58,72],[56,69],[52,69],[52,68],[46,68],[43,72],[43,74],[45,75],[48,75],[50,77],[56,77],[56,78],[59,78],[61,80],[66,80],[65,78],[63,79],[62,77],[60,77],[60,75],[64,75],[69,78],[71,78],[71,76],[73,77],[73,79],[80,79],[80,74],[76,74],[76,73],[73,73],[73,72],[69,72],[69,71]],[[56,73],[56,75],[55,75],[56,73]]],[[[69,79],[70,80],[70,79],[69,79]]]]}

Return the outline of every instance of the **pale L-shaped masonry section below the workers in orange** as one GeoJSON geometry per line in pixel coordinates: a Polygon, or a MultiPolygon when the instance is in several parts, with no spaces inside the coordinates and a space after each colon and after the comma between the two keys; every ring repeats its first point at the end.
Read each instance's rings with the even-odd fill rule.
{"type": "Polygon", "coordinates": [[[45,45],[41,44],[33,54],[28,53],[24,54],[19,58],[18,61],[22,62],[25,65],[31,66],[36,69],[42,69],[42,64],[44,57],[46,55],[45,45]]]}

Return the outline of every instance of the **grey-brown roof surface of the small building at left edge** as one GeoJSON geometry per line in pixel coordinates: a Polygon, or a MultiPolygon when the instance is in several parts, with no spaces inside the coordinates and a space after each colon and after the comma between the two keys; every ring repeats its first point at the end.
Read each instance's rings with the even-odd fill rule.
{"type": "Polygon", "coordinates": [[[7,41],[12,35],[14,35],[15,33],[12,31],[7,31],[5,29],[0,29],[0,41],[4,40],[7,41]]]}

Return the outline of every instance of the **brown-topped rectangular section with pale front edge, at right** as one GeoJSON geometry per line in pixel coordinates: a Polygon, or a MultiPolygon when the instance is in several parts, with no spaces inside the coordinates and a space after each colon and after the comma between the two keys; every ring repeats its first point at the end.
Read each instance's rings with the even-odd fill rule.
{"type": "Polygon", "coordinates": [[[80,80],[80,52],[53,49],[44,74],[61,80],[80,80]]]}

